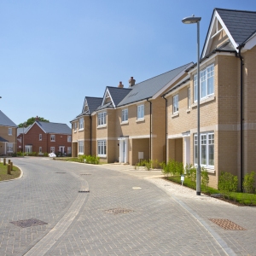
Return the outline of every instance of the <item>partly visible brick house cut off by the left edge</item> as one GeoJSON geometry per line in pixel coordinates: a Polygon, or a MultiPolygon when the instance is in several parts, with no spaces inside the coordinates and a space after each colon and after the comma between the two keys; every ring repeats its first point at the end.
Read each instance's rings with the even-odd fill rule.
{"type": "Polygon", "coordinates": [[[17,125],[0,110],[0,155],[16,152],[17,125]]]}

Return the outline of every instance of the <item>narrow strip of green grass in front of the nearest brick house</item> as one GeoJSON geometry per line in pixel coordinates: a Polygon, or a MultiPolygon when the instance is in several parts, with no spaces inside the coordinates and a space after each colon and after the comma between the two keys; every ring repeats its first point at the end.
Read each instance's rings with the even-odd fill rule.
{"type": "MultiPolygon", "coordinates": [[[[165,179],[172,181],[174,183],[181,184],[180,176],[171,176],[165,177],[165,179]]],[[[190,189],[195,189],[195,182],[191,182],[189,178],[185,177],[183,182],[183,186],[189,187],[190,189]]],[[[256,207],[256,195],[249,193],[241,193],[241,192],[227,192],[220,191],[218,189],[213,189],[210,187],[205,187],[201,185],[201,193],[206,195],[220,194],[221,197],[218,199],[223,201],[229,201],[230,203],[234,203],[239,206],[248,206],[248,207],[256,207]]]]}

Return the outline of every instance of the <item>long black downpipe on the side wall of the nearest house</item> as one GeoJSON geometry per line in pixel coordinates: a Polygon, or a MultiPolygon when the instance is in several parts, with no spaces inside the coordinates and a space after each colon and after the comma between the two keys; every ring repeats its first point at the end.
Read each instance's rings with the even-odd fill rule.
{"type": "MultiPolygon", "coordinates": [[[[238,46],[238,56],[240,59],[240,158],[241,158],[241,170],[240,170],[240,189],[242,192],[242,182],[243,182],[243,113],[242,113],[242,107],[243,107],[243,94],[242,94],[242,80],[243,80],[243,76],[242,76],[242,66],[243,66],[243,58],[241,56],[241,48],[244,47],[245,44],[241,44],[238,46]]],[[[237,56],[237,55],[236,55],[237,56]]]]}

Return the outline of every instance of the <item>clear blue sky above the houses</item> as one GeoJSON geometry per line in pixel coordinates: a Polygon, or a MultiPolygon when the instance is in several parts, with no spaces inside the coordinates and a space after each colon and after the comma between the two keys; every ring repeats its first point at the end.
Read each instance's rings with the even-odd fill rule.
{"type": "Polygon", "coordinates": [[[256,11],[256,1],[2,0],[0,109],[20,124],[32,116],[66,123],[84,96],[131,76],[137,83],[196,61],[214,8],[256,11]]]}

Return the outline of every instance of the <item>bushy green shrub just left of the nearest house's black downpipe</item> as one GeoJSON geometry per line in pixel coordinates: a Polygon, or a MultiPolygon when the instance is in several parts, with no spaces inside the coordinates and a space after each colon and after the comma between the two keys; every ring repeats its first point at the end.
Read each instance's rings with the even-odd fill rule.
{"type": "Polygon", "coordinates": [[[218,178],[219,190],[227,192],[236,192],[237,186],[237,176],[231,174],[230,172],[220,172],[220,177],[218,178]]]}

